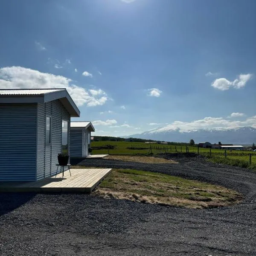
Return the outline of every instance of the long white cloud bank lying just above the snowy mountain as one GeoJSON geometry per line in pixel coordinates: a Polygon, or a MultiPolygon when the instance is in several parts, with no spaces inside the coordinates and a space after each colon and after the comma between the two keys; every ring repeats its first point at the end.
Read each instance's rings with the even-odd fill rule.
{"type": "Polygon", "coordinates": [[[151,132],[155,131],[168,131],[168,130],[176,130],[180,129],[180,131],[190,131],[190,130],[197,130],[203,128],[236,128],[236,127],[243,127],[243,126],[252,126],[256,128],[256,116],[248,117],[243,121],[239,120],[227,120],[222,117],[205,117],[204,119],[194,120],[192,122],[181,122],[175,121],[171,124],[162,127],[153,129],[151,132]]]}

